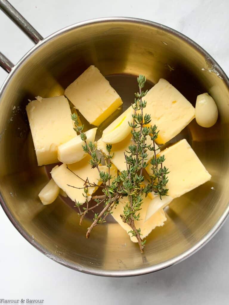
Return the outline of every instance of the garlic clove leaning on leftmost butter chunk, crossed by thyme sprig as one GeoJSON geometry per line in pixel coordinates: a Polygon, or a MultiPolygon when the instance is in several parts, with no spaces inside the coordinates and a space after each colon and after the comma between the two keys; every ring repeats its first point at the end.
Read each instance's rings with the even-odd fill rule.
{"type": "MultiPolygon", "coordinates": [[[[96,130],[97,128],[92,128],[88,131],[85,131],[87,143],[94,143],[96,130]]],[[[82,141],[80,135],[76,136],[75,138],[69,140],[64,144],[61,144],[60,146],[58,146],[57,150],[58,160],[66,164],[72,164],[82,160],[88,154],[87,152],[84,152],[82,145],[85,145],[85,142],[82,141]]]]}

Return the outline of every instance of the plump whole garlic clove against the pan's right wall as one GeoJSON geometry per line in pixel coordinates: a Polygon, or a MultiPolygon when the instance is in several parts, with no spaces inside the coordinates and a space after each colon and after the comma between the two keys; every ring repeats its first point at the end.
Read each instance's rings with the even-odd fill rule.
{"type": "Polygon", "coordinates": [[[218,109],[215,101],[208,93],[197,96],[195,117],[198,125],[212,127],[218,119],[218,109]]]}

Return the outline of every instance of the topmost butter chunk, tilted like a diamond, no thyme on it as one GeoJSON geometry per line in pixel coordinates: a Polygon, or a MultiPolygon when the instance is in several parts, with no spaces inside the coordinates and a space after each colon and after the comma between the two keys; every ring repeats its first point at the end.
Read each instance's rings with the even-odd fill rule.
{"type": "Polygon", "coordinates": [[[122,105],[118,93],[95,66],[89,66],[64,94],[85,119],[96,126],[122,105]]]}

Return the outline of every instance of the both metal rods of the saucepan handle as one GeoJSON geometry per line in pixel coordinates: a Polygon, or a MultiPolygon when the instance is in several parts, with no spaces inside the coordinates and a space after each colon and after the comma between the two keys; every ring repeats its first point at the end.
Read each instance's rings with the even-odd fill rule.
{"type": "MultiPolygon", "coordinates": [[[[43,37],[7,0],[0,0],[0,9],[31,39],[35,44],[43,37]]],[[[14,64],[0,52],[0,66],[10,72],[14,64]]]]}

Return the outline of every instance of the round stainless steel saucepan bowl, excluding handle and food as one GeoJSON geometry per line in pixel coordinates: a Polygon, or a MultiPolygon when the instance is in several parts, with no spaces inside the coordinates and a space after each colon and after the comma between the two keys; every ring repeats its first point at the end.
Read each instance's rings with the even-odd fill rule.
{"type": "MultiPolygon", "coordinates": [[[[124,108],[129,103],[126,99],[124,108]]],[[[158,271],[197,251],[227,217],[228,129],[228,78],[189,38],[160,24],[133,18],[102,18],[72,25],[32,48],[0,91],[2,207],[32,245],[67,267],[104,276],[158,271]],[[193,105],[197,94],[209,92],[218,106],[215,126],[205,129],[193,121],[181,135],[212,179],[170,204],[167,222],[148,236],[144,254],[118,224],[96,227],[88,240],[85,230],[89,219],[79,227],[77,212],[62,199],[49,206],[42,206],[38,199],[48,178],[44,167],[37,167],[25,115],[27,99],[63,94],[64,88],[91,64],[111,81],[121,74],[120,81],[113,79],[113,85],[126,94],[135,88],[125,75],[144,74],[152,83],[164,77],[193,105]]]]}

